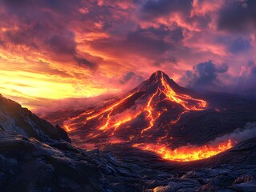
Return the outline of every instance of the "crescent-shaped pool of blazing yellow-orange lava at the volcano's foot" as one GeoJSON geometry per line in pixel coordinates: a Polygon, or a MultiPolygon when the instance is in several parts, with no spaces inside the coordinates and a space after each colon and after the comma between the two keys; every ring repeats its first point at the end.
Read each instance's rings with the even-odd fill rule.
{"type": "Polygon", "coordinates": [[[232,142],[230,139],[227,142],[220,142],[216,145],[205,146],[181,146],[175,150],[171,150],[164,145],[154,144],[135,144],[133,145],[140,150],[148,150],[154,152],[174,162],[191,162],[204,158],[210,158],[216,154],[220,154],[226,150],[229,150],[234,146],[236,142],[232,142]]]}

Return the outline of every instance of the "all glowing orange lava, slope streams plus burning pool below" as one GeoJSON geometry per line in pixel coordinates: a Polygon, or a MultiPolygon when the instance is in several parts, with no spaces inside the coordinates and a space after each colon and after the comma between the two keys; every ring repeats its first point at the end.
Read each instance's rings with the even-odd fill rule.
{"type": "MultiPolygon", "coordinates": [[[[118,102],[114,102],[110,106],[104,107],[99,110],[88,110],[75,118],[69,118],[66,122],[64,122],[65,129],[67,131],[73,131],[81,125],[87,125],[87,123],[89,122],[97,123],[97,125],[99,125],[100,123],[99,126],[95,127],[95,133],[88,134],[87,138],[96,138],[101,133],[106,133],[110,137],[108,141],[111,143],[130,142],[132,141],[133,138],[150,138],[152,137],[152,134],[151,132],[149,132],[149,130],[152,130],[153,127],[156,129],[159,128],[156,127],[156,121],[161,117],[161,114],[169,113],[169,111],[172,110],[172,108],[166,107],[162,108],[161,110],[156,110],[156,105],[158,105],[160,102],[165,101],[177,103],[182,107],[181,109],[183,109],[181,112],[179,112],[177,118],[169,122],[169,126],[173,126],[174,124],[179,122],[182,114],[188,113],[189,111],[198,111],[206,109],[207,102],[205,102],[204,100],[199,98],[192,98],[187,94],[181,94],[173,90],[173,88],[169,85],[168,79],[164,77],[163,73],[156,73],[155,77],[156,79],[154,79],[152,83],[154,85],[157,85],[156,90],[152,94],[149,94],[148,97],[146,93],[144,93],[140,97],[143,98],[140,102],[140,108],[137,107],[136,110],[124,110],[120,114],[113,114],[113,111],[118,109],[120,105],[122,105],[124,102],[127,102],[129,98],[132,98],[132,96],[141,92],[142,90],[138,90],[136,92],[133,92],[132,94],[128,94],[128,96],[126,96],[123,99],[120,99],[118,102]],[[165,97],[163,97],[164,95],[165,97]],[[114,137],[117,130],[121,128],[124,129],[125,123],[131,122],[132,120],[136,119],[140,114],[144,114],[144,119],[148,122],[148,126],[142,128],[139,134],[130,136],[128,141],[124,141],[124,139],[114,137]],[[83,122],[83,119],[86,119],[85,123],[83,122]]],[[[148,83],[150,82],[148,81],[148,83]]],[[[131,129],[131,126],[128,127],[131,129]]],[[[155,144],[139,142],[140,144],[134,144],[133,146],[140,148],[140,150],[152,151],[156,154],[159,154],[161,158],[177,162],[189,162],[212,157],[213,155],[219,154],[225,150],[230,149],[231,147],[234,146],[235,143],[234,141],[228,140],[226,142],[220,142],[217,145],[181,146],[175,150],[172,150],[169,147],[171,145],[170,141],[167,142],[167,144],[163,144],[163,142],[164,139],[173,140],[174,138],[169,138],[168,132],[165,130],[163,131],[165,135],[162,134],[161,136],[159,136],[159,138],[156,138],[157,142],[155,144]]]]}

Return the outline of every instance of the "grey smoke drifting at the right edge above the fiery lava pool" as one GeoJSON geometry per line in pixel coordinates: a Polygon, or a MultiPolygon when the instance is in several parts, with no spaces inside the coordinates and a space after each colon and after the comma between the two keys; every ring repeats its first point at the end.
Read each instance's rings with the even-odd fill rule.
{"type": "Polygon", "coordinates": [[[243,128],[234,130],[231,134],[225,134],[213,141],[213,145],[231,139],[233,142],[243,142],[256,137],[256,122],[247,122],[243,128]]]}

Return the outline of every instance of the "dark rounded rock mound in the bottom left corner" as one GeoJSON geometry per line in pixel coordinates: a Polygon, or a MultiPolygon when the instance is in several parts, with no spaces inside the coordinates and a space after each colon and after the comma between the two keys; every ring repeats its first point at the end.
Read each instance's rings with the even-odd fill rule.
{"type": "Polygon", "coordinates": [[[67,142],[5,133],[0,139],[1,191],[99,191],[104,185],[89,155],[67,142]]]}

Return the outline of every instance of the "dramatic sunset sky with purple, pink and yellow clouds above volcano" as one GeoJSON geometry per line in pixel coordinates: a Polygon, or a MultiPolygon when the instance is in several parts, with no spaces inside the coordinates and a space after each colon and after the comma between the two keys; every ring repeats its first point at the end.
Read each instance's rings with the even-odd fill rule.
{"type": "Polygon", "coordinates": [[[0,93],[35,109],[123,93],[156,70],[256,92],[254,0],[0,0],[0,93]]]}

